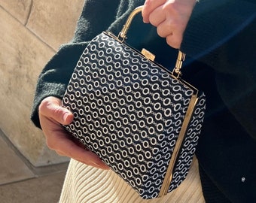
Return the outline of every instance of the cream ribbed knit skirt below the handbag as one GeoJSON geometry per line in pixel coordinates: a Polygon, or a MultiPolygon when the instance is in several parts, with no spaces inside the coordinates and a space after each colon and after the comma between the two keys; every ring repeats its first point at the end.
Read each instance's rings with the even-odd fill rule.
{"type": "Polygon", "coordinates": [[[197,160],[194,160],[178,189],[162,198],[142,199],[139,194],[113,171],[102,171],[71,160],[59,203],[203,203],[197,160]]]}

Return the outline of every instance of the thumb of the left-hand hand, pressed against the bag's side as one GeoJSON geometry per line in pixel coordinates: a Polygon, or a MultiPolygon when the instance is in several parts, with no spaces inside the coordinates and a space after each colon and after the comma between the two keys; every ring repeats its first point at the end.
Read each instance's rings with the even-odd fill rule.
{"type": "Polygon", "coordinates": [[[38,108],[39,115],[55,120],[62,125],[68,125],[72,122],[74,116],[71,111],[62,108],[61,103],[61,100],[56,97],[44,98],[38,108]]]}

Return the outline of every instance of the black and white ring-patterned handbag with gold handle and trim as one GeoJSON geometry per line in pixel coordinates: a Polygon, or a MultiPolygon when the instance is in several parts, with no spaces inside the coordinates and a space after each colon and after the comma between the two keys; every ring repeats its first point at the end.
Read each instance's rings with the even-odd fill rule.
{"type": "Polygon", "coordinates": [[[102,32],[90,41],[62,106],[74,114],[65,128],[148,199],[166,195],[187,176],[206,96],[181,79],[181,51],[168,71],[147,50],[124,42],[140,11],[130,14],[118,36],[102,32]]]}

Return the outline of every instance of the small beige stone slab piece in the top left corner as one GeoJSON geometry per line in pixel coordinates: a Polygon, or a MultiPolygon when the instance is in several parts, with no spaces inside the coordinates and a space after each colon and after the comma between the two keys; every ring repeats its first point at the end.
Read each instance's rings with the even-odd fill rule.
{"type": "Polygon", "coordinates": [[[0,5],[21,23],[26,24],[32,0],[0,0],[0,5]]]}

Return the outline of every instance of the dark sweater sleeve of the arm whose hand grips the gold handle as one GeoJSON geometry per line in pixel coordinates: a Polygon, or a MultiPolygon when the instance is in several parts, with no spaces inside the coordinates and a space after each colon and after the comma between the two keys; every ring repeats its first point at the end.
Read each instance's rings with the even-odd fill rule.
{"type": "Polygon", "coordinates": [[[221,99],[256,139],[256,2],[200,0],[181,50],[215,71],[221,99]]]}

